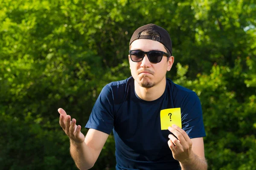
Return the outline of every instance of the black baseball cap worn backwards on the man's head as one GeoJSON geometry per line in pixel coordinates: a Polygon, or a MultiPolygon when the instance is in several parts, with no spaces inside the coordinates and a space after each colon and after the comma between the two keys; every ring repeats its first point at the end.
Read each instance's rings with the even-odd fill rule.
{"type": "Polygon", "coordinates": [[[131,36],[130,45],[132,42],[134,42],[137,39],[149,39],[154,40],[162,43],[171,53],[172,56],[172,40],[169,35],[169,33],[162,27],[157,26],[155,24],[147,24],[145,26],[142,26],[138,28],[136,31],[134,31],[134,34],[131,36]],[[154,29],[160,34],[160,37],[157,35],[140,35],[142,31],[146,29],[154,29]]]}

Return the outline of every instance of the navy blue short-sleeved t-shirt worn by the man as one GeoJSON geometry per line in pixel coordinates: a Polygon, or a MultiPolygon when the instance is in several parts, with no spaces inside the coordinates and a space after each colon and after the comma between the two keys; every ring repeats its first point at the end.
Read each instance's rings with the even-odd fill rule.
{"type": "Polygon", "coordinates": [[[154,101],[140,99],[134,79],[106,85],[86,128],[111,133],[116,144],[116,170],[180,170],[168,146],[169,130],[161,130],[160,111],[181,109],[182,129],[190,138],[206,136],[201,103],[195,92],[166,79],[166,89],[154,101]]]}

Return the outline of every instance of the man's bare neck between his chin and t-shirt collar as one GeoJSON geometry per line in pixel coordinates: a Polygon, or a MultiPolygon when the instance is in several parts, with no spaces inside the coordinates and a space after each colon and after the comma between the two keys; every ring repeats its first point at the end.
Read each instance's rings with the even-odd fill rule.
{"type": "Polygon", "coordinates": [[[166,78],[151,88],[143,88],[137,83],[137,81],[134,80],[134,87],[135,93],[140,97],[140,99],[145,101],[153,101],[163,95],[166,88],[166,78]]]}

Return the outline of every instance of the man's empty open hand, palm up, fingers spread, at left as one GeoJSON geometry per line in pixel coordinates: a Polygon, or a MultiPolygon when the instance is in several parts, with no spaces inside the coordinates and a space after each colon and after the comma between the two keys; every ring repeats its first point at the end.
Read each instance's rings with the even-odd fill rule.
{"type": "Polygon", "coordinates": [[[58,112],[60,113],[60,125],[71,141],[76,144],[84,142],[84,134],[81,133],[81,126],[76,125],[76,119],[71,121],[71,116],[67,115],[62,108],[59,108],[58,112]]]}

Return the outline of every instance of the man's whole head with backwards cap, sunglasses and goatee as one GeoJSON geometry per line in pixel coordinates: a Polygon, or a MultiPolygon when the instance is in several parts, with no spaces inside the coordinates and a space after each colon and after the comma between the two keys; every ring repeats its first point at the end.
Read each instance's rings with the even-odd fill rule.
{"type": "Polygon", "coordinates": [[[134,31],[129,63],[131,74],[141,87],[151,88],[165,82],[166,71],[170,71],[173,61],[172,41],[165,29],[148,24],[134,31]]]}

